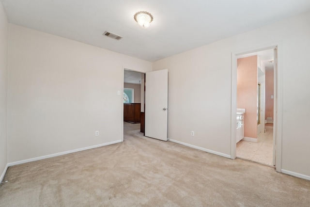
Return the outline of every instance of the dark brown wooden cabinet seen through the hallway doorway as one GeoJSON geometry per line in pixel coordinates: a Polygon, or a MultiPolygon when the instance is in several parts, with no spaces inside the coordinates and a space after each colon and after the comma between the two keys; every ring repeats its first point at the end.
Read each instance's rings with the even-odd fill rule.
{"type": "Polygon", "coordinates": [[[140,123],[141,103],[124,103],[124,122],[140,123]]]}

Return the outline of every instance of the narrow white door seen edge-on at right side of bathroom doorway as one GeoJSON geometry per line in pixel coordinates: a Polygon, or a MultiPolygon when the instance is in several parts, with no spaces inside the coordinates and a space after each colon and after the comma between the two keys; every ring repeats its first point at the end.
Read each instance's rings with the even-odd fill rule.
{"type": "Polygon", "coordinates": [[[277,54],[277,48],[273,49],[273,74],[274,74],[274,96],[273,96],[273,165],[276,166],[276,146],[277,146],[277,71],[278,71],[278,54],[277,54]]]}

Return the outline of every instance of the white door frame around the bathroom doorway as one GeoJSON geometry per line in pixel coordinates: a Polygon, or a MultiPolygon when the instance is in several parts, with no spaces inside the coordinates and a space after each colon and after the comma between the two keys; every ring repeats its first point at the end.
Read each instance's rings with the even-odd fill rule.
{"type": "Polygon", "coordinates": [[[243,49],[232,52],[232,97],[231,97],[231,159],[236,158],[236,112],[237,112],[237,56],[257,52],[266,49],[278,50],[278,71],[274,77],[277,88],[276,108],[274,108],[274,117],[276,124],[274,125],[274,136],[276,135],[276,171],[281,172],[281,150],[282,150],[282,43],[275,42],[258,47],[243,49]]]}

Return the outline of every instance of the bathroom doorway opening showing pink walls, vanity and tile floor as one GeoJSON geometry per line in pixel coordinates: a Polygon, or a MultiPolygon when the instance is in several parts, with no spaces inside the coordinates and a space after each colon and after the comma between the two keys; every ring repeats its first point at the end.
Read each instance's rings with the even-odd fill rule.
{"type": "Polygon", "coordinates": [[[266,127],[273,119],[273,69],[274,49],[237,56],[236,157],[268,166],[274,166],[273,128],[266,127]]]}

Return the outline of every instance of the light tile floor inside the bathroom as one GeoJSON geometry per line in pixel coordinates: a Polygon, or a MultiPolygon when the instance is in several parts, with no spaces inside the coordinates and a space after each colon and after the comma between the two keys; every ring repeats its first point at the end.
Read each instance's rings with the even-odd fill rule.
{"type": "Polygon", "coordinates": [[[273,166],[273,129],[266,129],[258,135],[258,142],[241,140],[237,143],[237,158],[273,166]]]}

